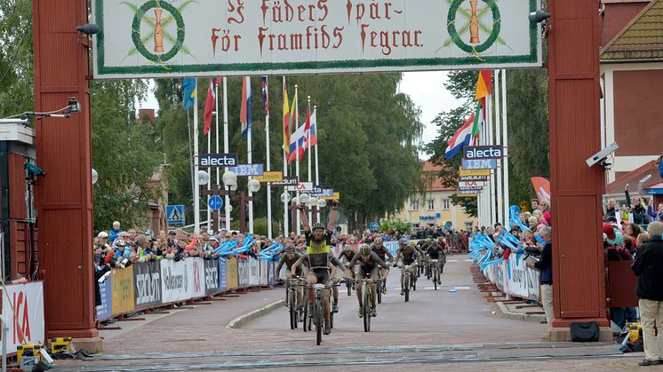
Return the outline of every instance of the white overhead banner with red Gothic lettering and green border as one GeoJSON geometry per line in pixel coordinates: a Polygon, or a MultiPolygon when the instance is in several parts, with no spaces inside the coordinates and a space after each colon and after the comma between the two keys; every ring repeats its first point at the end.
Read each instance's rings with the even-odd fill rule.
{"type": "Polygon", "coordinates": [[[93,0],[94,77],[540,67],[540,0],[93,0]]]}

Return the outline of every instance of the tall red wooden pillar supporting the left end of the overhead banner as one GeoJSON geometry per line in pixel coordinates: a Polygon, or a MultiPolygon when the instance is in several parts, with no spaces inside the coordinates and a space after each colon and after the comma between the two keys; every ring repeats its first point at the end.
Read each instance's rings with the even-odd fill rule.
{"type": "Polygon", "coordinates": [[[88,48],[76,26],[88,23],[86,0],[35,0],[36,111],[82,106],[70,118],[36,123],[36,160],[47,173],[36,182],[40,269],[46,336],[100,347],[92,276],[92,160],[88,48]],[[95,344],[83,343],[94,341],[95,344]]]}

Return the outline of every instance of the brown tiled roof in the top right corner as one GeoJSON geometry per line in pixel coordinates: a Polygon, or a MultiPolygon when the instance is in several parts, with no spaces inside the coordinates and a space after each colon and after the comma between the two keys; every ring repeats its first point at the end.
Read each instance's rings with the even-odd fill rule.
{"type": "Polygon", "coordinates": [[[663,0],[652,0],[601,51],[606,62],[663,59],[663,0]]]}

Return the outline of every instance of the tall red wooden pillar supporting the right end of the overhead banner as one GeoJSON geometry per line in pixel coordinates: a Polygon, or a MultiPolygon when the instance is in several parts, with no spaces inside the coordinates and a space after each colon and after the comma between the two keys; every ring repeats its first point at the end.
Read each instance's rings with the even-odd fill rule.
{"type": "Polygon", "coordinates": [[[585,162],[601,149],[600,34],[595,0],[548,0],[547,8],[552,15],[547,38],[555,297],[551,340],[559,341],[569,336],[571,322],[609,326],[601,228],[605,178],[600,166],[588,168],[585,162]]]}

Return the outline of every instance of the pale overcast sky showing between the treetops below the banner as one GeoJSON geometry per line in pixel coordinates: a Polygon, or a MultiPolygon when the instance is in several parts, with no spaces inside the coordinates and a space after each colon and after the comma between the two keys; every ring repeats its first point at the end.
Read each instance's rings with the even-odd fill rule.
{"type": "MultiPolygon", "coordinates": [[[[446,71],[435,72],[406,72],[403,74],[400,90],[412,99],[415,106],[421,110],[421,123],[424,124],[422,143],[426,144],[437,137],[437,128],[433,124],[435,116],[443,111],[458,107],[460,102],[455,99],[451,92],[444,88],[443,83],[447,80],[446,71]]],[[[156,108],[153,88],[154,81],[150,80],[150,92],[147,99],[139,103],[140,108],[156,108]]],[[[419,154],[419,158],[425,160],[425,154],[419,154]]]]}

